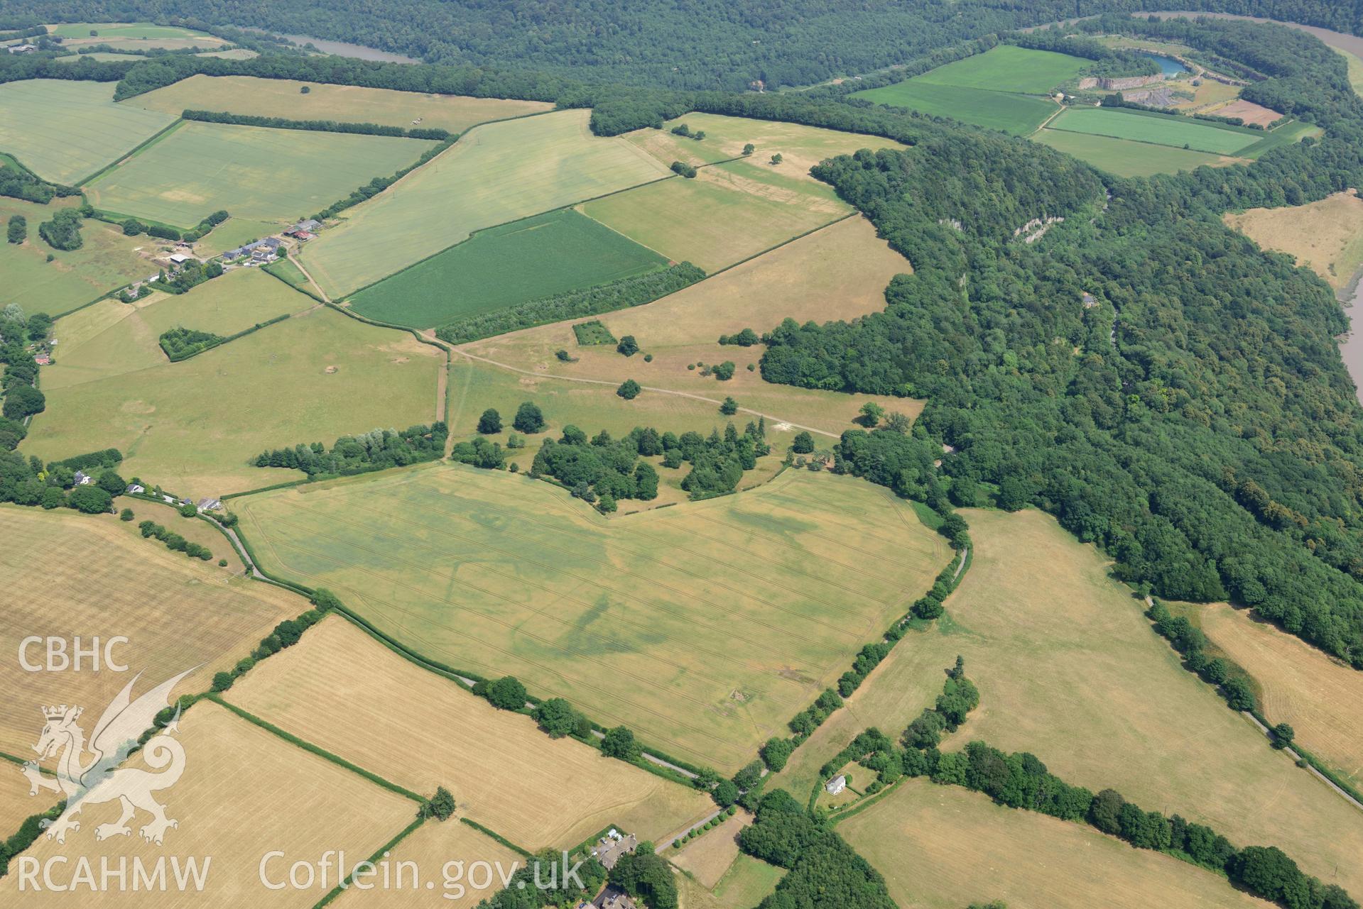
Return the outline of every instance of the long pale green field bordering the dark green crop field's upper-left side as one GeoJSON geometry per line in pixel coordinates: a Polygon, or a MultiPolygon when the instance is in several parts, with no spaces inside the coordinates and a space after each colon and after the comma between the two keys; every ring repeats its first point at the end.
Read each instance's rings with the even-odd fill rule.
{"type": "Polygon", "coordinates": [[[597,139],[586,110],[487,124],[346,212],[303,252],[333,297],[353,293],[473,231],[667,177],[626,139],[597,139]]]}

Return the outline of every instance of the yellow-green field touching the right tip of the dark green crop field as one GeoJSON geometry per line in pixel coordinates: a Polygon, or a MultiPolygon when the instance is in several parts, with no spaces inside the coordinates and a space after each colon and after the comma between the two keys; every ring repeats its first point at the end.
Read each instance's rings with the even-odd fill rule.
{"type": "Polygon", "coordinates": [[[789,165],[733,161],[597,199],[582,212],[673,261],[714,272],[851,214],[789,165]]]}

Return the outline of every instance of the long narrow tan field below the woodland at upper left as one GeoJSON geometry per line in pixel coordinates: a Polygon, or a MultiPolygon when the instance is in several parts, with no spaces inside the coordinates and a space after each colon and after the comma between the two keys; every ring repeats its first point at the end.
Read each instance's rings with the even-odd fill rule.
{"type": "Polygon", "coordinates": [[[125,103],[179,117],[183,110],[221,110],[254,117],[376,122],[403,129],[463,132],[488,120],[552,110],[542,101],[504,101],[429,95],[360,86],[328,86],[293,79],[195,75],[125,103]],[[303,94],[301,88],[308,93],[303,94]],[[420,122],[414,122],[420,120],[420,122]]]}

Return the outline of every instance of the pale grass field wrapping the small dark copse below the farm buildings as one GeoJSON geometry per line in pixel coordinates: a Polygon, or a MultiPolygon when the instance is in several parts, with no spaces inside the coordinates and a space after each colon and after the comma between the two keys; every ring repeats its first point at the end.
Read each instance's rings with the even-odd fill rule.
{"type": "Polygon", "coordinates": [[[183,325],[215,335],[234,335],[315,301],[256,268],[239,268],[187,294],[154,293],[135,303],[102,299],[57,323],[57,362],[42,371],[42,388],[55,391],[168,366],[157,339],[183,325]]]}

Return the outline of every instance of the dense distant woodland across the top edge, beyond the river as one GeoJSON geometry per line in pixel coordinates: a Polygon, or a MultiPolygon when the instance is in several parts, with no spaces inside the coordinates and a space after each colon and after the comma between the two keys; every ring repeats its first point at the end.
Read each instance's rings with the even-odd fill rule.
{"type": "MultiPolygon", "coordinates": [[[[427,63],[504,65],[515,60],[594,82],[743,90],[754,83],[776,88],[864,73],[991,33],[1148,5],[1139,0],[4,0],[0,24],[204,20],[352,41],[427,63]]],[[[1186,0],[1175,5],[1340,31],[1363,23],[1356,0],[1186,0]]]]}

